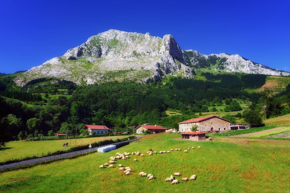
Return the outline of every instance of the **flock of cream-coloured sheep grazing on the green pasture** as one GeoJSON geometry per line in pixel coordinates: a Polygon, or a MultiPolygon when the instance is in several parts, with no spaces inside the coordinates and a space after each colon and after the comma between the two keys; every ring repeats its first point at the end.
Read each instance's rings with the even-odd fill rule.
{"type": "MultiPolygon", "coordinates": [[[[197,148],[200,149],[200,146],[198,146],[197,148]]],[[[188,147],[187,150],[184,150],[183,152],[188,152],[188,150],[190,150],[190,149],[191,149],[191,148],[188,147]]],[[[194,147],[192,147],[192,149],[194,149],[194,147]]],[[[171,151],[173,151],[173,149],[170,149],[170,151],[160,151],[159,153],[160,153],[160,154],[162,154],[162,153],[170,153],[171,151]]],[[[181,151],[181,149],[177,149],[177,148],[175,148],[175,151],[181,151]]],[[[153,151],[150,149],[150,151],[147,151],[146,154],[148,154],[148,155],[153,155],[153,154],[157,154],[157,152],[156,152],[156,151],[153,152],[153,151]]],[[[110,157],[110,161],[109,161],[109,163],[104,163],[104,165],[101,165],[99,168],[104,168],[104,166],[108,166],[108,168],[113,168],[113,163],[115,163],[115,161],[116,161],[117,159],[124,159],[124,160],[126,160],[126,159],[129,157],[129,155],[144,156],[143,154],[140,154],[139,151],[137,151],[137,152],[132,152],[131,154],[130,154],[129,152],[124,152],[124,153],[119,153],[119,152],[118,152],[118,153],[116,153],[116,155],[117,155],[116,157],[113,157],[113,156],[110,157]],[[110,165],[109,165],[109,164],[110,164],[110,165]]],[[[137,159],[134,159],[133,161],[137,161],[137,159]]],[[[122,170],[122,171],[124,171],[123,174],[125,174],[125,175],[130,175],[130,172],[131,172],[131,170],[132,170],[130,167],[124,167],[122,164],[119,164],[118,167],[119,167],[118,170],[122,170]]],[[[173,175],[175,175],[175,176],[181,176],[181,175],[180,175],[180,172],[175,172],[175,173],[173,173],[173,175]]],[[[140,172],[140,173],[138,174],[138,176],[141,176],[141,177],[147,177],[148,180],[152,180],[152,179],[154,179],[154,176],[153,176],[151,173],[150,173],[150,174],[147,174],[147,173],[145,173],[145,172],[140,172]]],[[[189,180],[195,180],[195,179],[196,179],[196,175],[192,175],[192,176],[189,178],[189,180]]],[[[165,181],[171,181],[171,184],[178,184],[178,180],[177,180],[177,179],[174,179],[172,175],[171,175],[170,178],[166,178],[165,181]]],[[[185,177],[185,178],[182,178],[181,181],[187,181],[187,178],[186,178],[186,177],[185,177]]]]}

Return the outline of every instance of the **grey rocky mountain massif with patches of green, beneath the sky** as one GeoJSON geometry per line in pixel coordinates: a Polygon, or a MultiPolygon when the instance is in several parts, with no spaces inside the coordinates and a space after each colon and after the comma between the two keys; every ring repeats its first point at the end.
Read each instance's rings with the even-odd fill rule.
{"type": "Polygon", "coordinates": [[[162,76],[192,77],[193,69],[210,67],[215,71],[289,75],[254,63],[239,55],[204,55],[180,49],[173,36],[153,37],[149,33],[108,30],[99,33],[63,56],[52,58],[20,74],[15,82],[25,85],[37,78],[56,77],[77,84],[111,80],[146,82],[162,76]]]}

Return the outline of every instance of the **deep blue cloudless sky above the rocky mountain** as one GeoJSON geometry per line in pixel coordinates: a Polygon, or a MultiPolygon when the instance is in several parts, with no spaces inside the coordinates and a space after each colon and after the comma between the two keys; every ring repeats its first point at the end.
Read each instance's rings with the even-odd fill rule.
{"type": "Polygon", "coordinates": [[[109,29],[290,71],[288,1],[1,1],[0,72],[41,65],[109,29]]]}

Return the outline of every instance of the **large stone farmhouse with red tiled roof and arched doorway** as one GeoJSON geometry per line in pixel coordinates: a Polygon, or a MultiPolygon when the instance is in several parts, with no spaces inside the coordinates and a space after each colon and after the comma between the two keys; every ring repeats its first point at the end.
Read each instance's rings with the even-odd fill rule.
{"type": "Polygon", "coordinates": [[[231,130],[230,123],[231,121],[229,120],[213,115],[189,119],[178,123],[178,125],[180,133],[191,132],[193,125],[198,126],[197,132],[222,132],[231,130]]]}

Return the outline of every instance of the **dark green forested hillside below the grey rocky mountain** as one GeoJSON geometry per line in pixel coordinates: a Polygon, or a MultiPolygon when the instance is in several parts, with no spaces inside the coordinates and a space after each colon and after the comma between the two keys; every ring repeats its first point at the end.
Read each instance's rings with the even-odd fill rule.
{"type": "Polygon", "coordinates": [[[66,128],[77,128],[78,133],[86,135],[82,129],[84,124],[116,126],[117,131],[143,123],[177,128],[178,122],[196,117],[195,113],[209,112],[209,106],[219,109],[216,111],[240,111],[242,108],[236,99],[248,102],[243,117],[253,125],[261,124],[261,117],[265,116],[264,105],[267,117],[290,112],[289,85],[277,95],[267,90],[261,93],[245,91],[261,87],[265,75],[204,73],[203,76],[206,81],[168,77],[148,84],[115,81],[86,86],[41,78],[24,87],[17,86],[12,77],[1,78],[1,138],[47,136],[64,133],[66,128]],[[221,105],[225,108],[218,108],[221,105]],[[167,109],[178,110],[182,115],[168,116],[167,109]]]}

